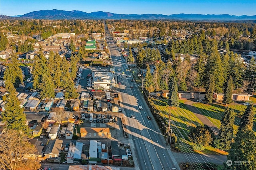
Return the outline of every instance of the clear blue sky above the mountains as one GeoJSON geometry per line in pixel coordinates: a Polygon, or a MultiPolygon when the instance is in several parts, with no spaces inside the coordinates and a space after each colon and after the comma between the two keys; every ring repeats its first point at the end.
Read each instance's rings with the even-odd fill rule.
{"type": "Polygon", "coordinates": [[[0,0],[0,14],[23,15],[38,10],[80,10],[116,14],[256,15],[256,0],[0,0]]]}

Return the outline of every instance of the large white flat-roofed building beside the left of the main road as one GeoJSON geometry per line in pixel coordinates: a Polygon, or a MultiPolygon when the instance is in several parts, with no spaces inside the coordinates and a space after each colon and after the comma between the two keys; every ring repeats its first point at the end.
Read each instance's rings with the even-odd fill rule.
{"type": "Polygon", "coordinates": [[[110,89],[114,87],[115,79],[112,72],[93,72],[92,87],[94,89],[110,89]]]}

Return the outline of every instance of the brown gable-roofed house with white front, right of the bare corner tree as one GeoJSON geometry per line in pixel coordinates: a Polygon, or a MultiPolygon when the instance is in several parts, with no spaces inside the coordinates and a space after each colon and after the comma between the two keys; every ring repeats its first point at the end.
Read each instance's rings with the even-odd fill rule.
{"type": "Polygon", "coordinates": [[[62,147],[62,140],[55,139],[55,140],[49,140],[47,149],[44,153],[45,159],[51,159],[51,160],[58,160],[60,156],[60,150],[62,147]]]}

